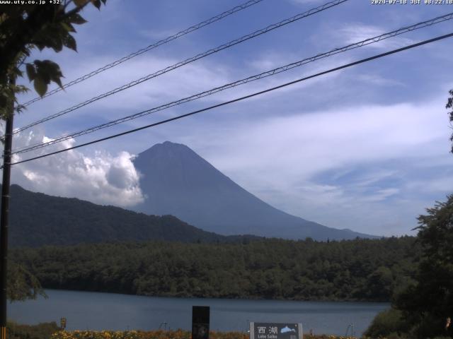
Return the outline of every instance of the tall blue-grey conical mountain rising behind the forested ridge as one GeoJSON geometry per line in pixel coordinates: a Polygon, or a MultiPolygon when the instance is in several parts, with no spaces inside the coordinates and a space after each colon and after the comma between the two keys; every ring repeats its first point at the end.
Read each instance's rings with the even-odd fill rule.
{"type": "Polygon", "coordinates": [[[175,215],[219,234],[316,240],[372,237],[289,215],[260,200],[219,172],[186,145],[166,141],[134,159],[145,200],[133,209],[175,215]]]}

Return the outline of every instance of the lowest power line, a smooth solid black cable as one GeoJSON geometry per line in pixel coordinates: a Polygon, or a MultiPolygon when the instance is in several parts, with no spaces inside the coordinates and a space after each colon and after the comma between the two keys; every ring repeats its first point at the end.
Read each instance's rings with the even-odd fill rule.
{"type": "Polygon", "coordinates": [[[429,39],[429,40],[424,40],[424,41],[418,42],[416,44],[410,44],[410,45],[408,45],[406,47],[393,49],[393,50],[391,50],[389,52],[385,52],[385,53],[382,53],[382,54],[374,55],[373,57],[368,57],[366,59],[361,59],[359,61],[354,61],[354,62],[351,62],[350,64],[345,64],[343,66],[338,66],[336,68],[329,69],[328,71],[322,71],[322,72],[316,73],[316,74],[311,75],[311,76],[306,76],[304,78],[300,78],[300,79],[297,79],[297,80],[294,80],[294,81],[290,81],[289,83],[284,83],[282,85],[278,85],[278,86],[275,86],[273,88],[268,88],[267,90],[261,90],[259,92],[256,92],[256,93],[253,93],[253,94],[250,94],[250,95],[245,95],[243,97],[238,97],[236,99],[229,100],[229,101],[226,101],[226,102],[222,102],[222,103],[217,104],[217,105],[212,105],[210,107],[205,107],[203,109],[198,109],[198,110],[190,112],[190,113],[178,115],[177,117],[161,120],[161,121],[155,122],[154,124],[149,124],[149,125],[146,125],[146,126],[138,127],[137,129],[131,129],[129,131],[125,131],[125,132],[122,132],[122,133],[117,133],[117,134],[114,134],[112,136],[107,136],[105,138],[100,138],[100,139],[97,139],[97,140],[94,140],[94,141],[90,141],[88,143],[82,143],[81,145],[76,145],[76,146],[72,146],[72,147],[69,147],[69,148],[64,148],[63,150],[57,150],[57,151],[52,152],[52,153],[47,153],[47,154],[44,154],[44,155],[39,155],[37,157],[30,157],[30,158],[25,159],[25,160],[12,162],[11,165],[18,165],[18,164],[21,164],[23,162],[29,162],[29,161],[32,161],[32,160],[38,160],[38,159],[41,159],[42,157],[48,157],[50,155],[55,155],[55,154],[58,154],[58,153],[67,152],[68,150],[74,150],[76,148],[81,148],[81,147],[84,147],[84,146],[87,146],[87,145],[92,145],[93,143],[100,143],[101,141],[106,141],[106,140],[109,140],[109,139],[117,138],[119,136],[125,136],[126,134],[134,133],[134,132],[137,132],[137,131],[142,131],[142,129],[149,129],[150,127],[158,126],[158,125],[161,125],[161,124],[166,124],[168,122],[175,121],[175,120],[178,120],[178,119],[182,119],[182,118],[185,118],[185,117],[190,117],[191,115],[195,115],[195,114],[198,114],[198,113],[206,112],[206,111],[208,111],[210,109],[214,109],[214,108],[217,108],[217,107],[222,107],[224,105],[229,105],[229,104],[232,104],[234,102],[239,102],[241,100],[246,100],[246,99],[251,98],[251,97],[256,97],[257,95],[262,95],[264,93],[268,93],[268,92],[271,92],[273,90],[284,88],[284,87],[287,87],[289,85],[294,85],[295,83],[300,83],[302,81],[306,81],[306,80],[309,80],[311,78],[316,78],[318,76],[323,76],[325,74],[332,73],[334,71],[339,71],[340,69],[346,69],[346,68],[351,67],[351,66],[355,66],[355,65],[358,65],[358,64],[363,64],[363,63],[365,63],[367,61],[372,61],[374,59],[379,59],[379,58],[382,58],[382,57],[386,57],[386,56],[389,56],[391,54],[396,54],[398,52],[403,52],[406,49],[412,49],[412,48],[415,48],[415,47],[422,46],[424,44],[429,44],[431,42],[436,42],[436,41],[439,41],[439,40],[442,40],[442,39],[446,39],[447,37],[453,37],[453,32],[449,33],[449,34],[446,34],[446,35],[441,35],[439,37],[434,37],[434,38],[429,39]]]}

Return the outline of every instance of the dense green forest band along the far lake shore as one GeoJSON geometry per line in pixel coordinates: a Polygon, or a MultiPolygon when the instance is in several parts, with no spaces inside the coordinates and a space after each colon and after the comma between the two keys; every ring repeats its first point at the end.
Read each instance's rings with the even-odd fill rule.
{"type": "Polygon", "coordinates": [[[47,288],[176,297],[389,301],[414,275],[413,237],[341,242],[141,242],[14,249],[47,288]]]}

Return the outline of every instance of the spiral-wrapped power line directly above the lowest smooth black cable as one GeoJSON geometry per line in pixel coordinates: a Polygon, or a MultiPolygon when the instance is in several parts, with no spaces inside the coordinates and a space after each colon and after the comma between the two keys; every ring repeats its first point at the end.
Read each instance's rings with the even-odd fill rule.
{"type": "Polygon", "coordinates": [[[170,107],[174,107],[174,106],[177,106],[177,105],[181,105],[181,104],[183,104],[185,102],[190,102],[190,101],[193,101],[193,100],[197,100],[197,99],[200,99],[201,97],[206,97],[208,95],[212,95],[214,93],[221,92],[222,90],[226,90],[226,89],[229,89],[229,88],[234,88],[234,87],[236,87],[238,85],[243,85],[243,84],[249,83],[251,81],[256,81],[256,80],[259,80],[259,79],[262,79],[262,78],[266,78],[268,76],[274,76],[275,74],[282,73],[284,71],[288,71],[289,69],[294,69],[295,67],[299,67],[299,66],[302,66],[304,64],[308,64],[310,62],[314,62],[314,61],[319,60],[319,59],[323,59],[323,58],[326,58],[326,57],[331,57],[332,55],[339,54],[339,53],[342,53],[342,52],[346,52],[346,51],[348,51],[350,49],[355,49],[355,48],[358,48],[358,47],[366,46],[368,44],[379,42],[379,41],[388,39],[390,37],[395,37],[396,35],[401,35],[401,34],[403,34],[405,32],[410,32],[410,31],[413,31],[413,30],[418,30],[420,28],[425,28],[425,27],[430,26],[430,25],[435,25],[437,23],[442,23],[442,22],[444,22],[446,20],[452,20],[452,18],[453,18],[453,12],[445,14],[444,16],[439,16],[439,17],[436,17],[436,18],[432,18],[430,20],[425,20],[425,21],[423,21],[421,23],[416,23],[415,25],[410,25],[410,26],[406,26],[406,27],[400,28],[398,30],[393,30],[391,32],[387,32],[387,33],[384,33],[382,35],[378,35],[376,37],[370,37],[370,38],[368,38],[366,40],[362,40],[360,42],[355,42],[353,44],[348,44],[348,46],[345,46],[345,47],[339,47],[339,48],[336,48],[336,49],[332,49],[331,51],[326,52],[326,53],[316,54],[316,56],[314,56],[314,57],[309,57],[309,58],[306,58],[306,59],[302,59],[300,61],[293,62],[292,64],[287,64],[285,66],[281,66],[281,67],[278,67],[276,69],[272,69],[270,71],[265,71],[263,73],[259,73],[259,74],[254,75],[254,76],[249,76],[248,78],[243,78],[243,79],[241,79],[239,81],[234,81],[233,83],[227,83],[226,85],[222,85],[222,86],[219,86],[217,88],[212,88],[211,90],[206,90],[206,91],[204,91],[202,93],[197,93],[195,95],[191,95],[190,97],[185,97],[185,98],[180,99],[180,100],[169,102],[169,103],[167,103],[165,105],[160,105],[158,107],[153,107],[151,109],[147,109],[147,110],[144,110],[142,112],[138,112],[138,113],[129,115],[127,117],[122,117],[120,119],[116,119],[116,120],[113,120],[113,121],[108,121],[105,124],[100,124],[100,125],[97,125],[97,126],[90,127],[88,129],[84,129],[82,131],[78,131],[78,132],[71,133],[71,134],[68,134],[68,135],[65,135],[65,136],[61,136],[59,138],[55,138],[55,139],[53,139],[51,141],[47,141],[45,143],[37,143],[35,145],[28,145],[28,146],[25,146],[23,148],[17,148],[16,150],[13,150],[13,154],[26,153],[26,152],[30,152],[32,150],[37,150],[39,148],[43,148],[43,147],[47,147],[47,146],[50,146],[50,145],[54,145],[56,143],[61,143],[62,141],[66,141],[66,140],[68,140],[70,138],[76,138],[78,136],[83,136],[83,135],[88,134],[88,133],[93,133],[93,132],[98,131],[100,129],[105,129],[105,128],[108,128],[110,126],[115,126],[117,124],[121,124],[121,123],[123,123],[125,121],[130,121],[132,119],[137,119],[139,117],[144,117],[145,115],[152,114],[154,112],[159,112],[159,111],[162,111],[164,109],[168,109],[170,107]]]}

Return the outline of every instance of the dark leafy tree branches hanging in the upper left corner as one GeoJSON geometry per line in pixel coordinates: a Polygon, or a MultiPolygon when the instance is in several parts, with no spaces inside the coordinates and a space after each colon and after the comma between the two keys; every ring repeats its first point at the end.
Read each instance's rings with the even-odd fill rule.
{"type": "MultiPolygon", "coordinates": [[[[87,5],[101,7],[106,0],[64,0],[62,4],[14,4],[0,11],[0,117],[16,102],[16,94],[27,88],[16,85],[23,76],[23,66],[36,92],[42,96],[51,81],[62,86],[59,65],[51,60],[26,61],[33,49],[51,48],[60,52],[63,47],[76,51],[74,25],[85,23],[79,12],[87,5]]],[[[19,110],[21,107],[17,107],[19,110]]]]}

